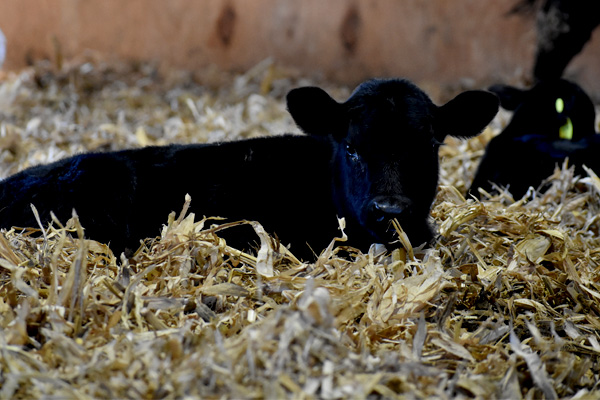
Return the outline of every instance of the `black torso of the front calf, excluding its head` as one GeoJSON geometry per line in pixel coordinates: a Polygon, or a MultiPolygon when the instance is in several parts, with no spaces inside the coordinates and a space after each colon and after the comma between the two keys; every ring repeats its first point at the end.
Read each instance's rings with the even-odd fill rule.
{"type": "Polygon", "coordinates": [[[50,211],[66,221],[75,208],[87,236],[110,242],[114,251],[135,250],[189,193],[199,215],[258,220],[282,238],[312,235],[321,245],[327,238],[310,222],[335,223],[331,186],[322,177],[329,153],[324,140],[279,136],[82,154],[2,182],[0,221],[36,226],[30,203],[44,222],[50,211]]]}

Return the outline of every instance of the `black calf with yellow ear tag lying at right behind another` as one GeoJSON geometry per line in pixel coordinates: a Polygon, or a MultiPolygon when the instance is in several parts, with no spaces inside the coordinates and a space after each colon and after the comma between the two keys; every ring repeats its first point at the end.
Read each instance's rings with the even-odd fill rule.
{"type": "Polygon", "coordinates": [[[496,85],[502,107],[514,114],[506,128],[487,145],[471,185],[471,194],[508,187],[516,198],[542,182],[566,158],[584,173],[582,165],[600,167],[600,139],[595,132],[595,109],[578,85],[564,79],[542,81],[530,90],[496,85]]]}

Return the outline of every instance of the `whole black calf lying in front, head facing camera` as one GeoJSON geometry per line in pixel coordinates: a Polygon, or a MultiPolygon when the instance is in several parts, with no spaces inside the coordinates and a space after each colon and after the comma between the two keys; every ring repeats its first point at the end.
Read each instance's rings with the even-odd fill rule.
{"type": "Polygon", "coordinates": [[[365,82],[344,103],[316,87],[287,101],[306,136],[88,153],[24,170],[0,184],[0,227],[36,226],[30,203],[44,223],[75,209],[88,237],[134,250],[189,193],[190,211],[257,220],[304,258],[339,234],[336,217],[363,250],[394,240],[392,218],[421,244],[432,237],[439,145],[478,134],[498,109],[482,91],[438,107],[405,80],[365,82]]]}

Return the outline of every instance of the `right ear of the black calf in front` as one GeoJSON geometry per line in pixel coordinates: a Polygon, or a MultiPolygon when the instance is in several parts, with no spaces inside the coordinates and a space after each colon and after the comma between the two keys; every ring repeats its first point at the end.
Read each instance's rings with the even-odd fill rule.
{"type": "Polygon", "coordinates": [[[435,116],[435,136],[470,138],[480,134],[498,113],[498,96],[483,90],[463,92],[439,107],[435,116]]]}

